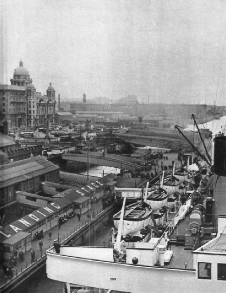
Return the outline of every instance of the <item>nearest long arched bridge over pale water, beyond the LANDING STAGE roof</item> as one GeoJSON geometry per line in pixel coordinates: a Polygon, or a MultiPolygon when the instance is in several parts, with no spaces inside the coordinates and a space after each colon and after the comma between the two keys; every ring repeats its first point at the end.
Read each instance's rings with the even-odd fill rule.
{"type": "MultiPolygon", "coordinates": [[[[81,154],[64,154],[62,159],[67,161],[76,161],[87,163],[87,152],[81,151],[81,154]]],[[[127,169],[131,171],[142,169],[137,162],[130,157],[124,157],[122,155],[109,155],[104,156],[101,153],[89,152],[88,153],[89,164],[96,164],[100,166],[108,166],[120,169],[127,169]]]]}

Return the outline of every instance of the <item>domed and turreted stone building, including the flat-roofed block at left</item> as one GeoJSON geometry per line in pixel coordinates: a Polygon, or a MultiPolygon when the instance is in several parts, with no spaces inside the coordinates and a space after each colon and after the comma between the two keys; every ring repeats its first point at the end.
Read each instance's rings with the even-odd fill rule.
{"type": "Polygon", "coordinates": [[[55,122],[55,90],[51,83],[46,95],[36,93],[22,60],[14,69],[10,82],[11,86],[0,85],[0,122],[7,123],[8,131],[45,127],[48,119],[51,123],[55,122]]]}

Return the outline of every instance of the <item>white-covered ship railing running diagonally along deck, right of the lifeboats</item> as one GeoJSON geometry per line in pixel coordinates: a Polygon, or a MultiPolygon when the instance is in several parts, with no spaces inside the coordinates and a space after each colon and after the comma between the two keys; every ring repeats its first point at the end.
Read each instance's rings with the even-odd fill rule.
{"type": "Polygon", "coordinates": [[[189,197],[187,199],[187,201],[185,202],[185,204],[179,208],[174,219],[170,222],[170,224],[168,224],[164,233],[162,234],[162,236],[158,239],[158,241],[154,245],[154,249],[156,248],[156,246],[160,243],[160,241],[163,238],[165,238],[167,241],[167,238],[169,237],[169,235],[171,235],[172,232],[174,232],[175,227],[177,226],[178,222],[181,221],[182,219],[184,219],[184,217],[186,216],[190,205],[191,205],[191,198],[189,197]]]}

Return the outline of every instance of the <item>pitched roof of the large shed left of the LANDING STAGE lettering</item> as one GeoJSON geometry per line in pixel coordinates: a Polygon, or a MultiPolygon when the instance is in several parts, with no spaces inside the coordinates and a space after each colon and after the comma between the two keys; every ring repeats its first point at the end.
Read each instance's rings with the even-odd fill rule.
{"type": "Polygon", "coordinates": [[[5,164],[0,166],[0,188],[58,169],[58,166],[41,156],[5,164]]]}

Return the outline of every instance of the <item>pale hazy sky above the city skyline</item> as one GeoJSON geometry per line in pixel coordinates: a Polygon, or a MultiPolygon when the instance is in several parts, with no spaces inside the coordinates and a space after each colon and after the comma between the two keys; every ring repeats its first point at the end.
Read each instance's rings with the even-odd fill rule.
{"type": "Polygon", "coordinates": [[[36,91],[52,82],[62,99],[225,101],[226,0],[3,3],[8,84],[21,58],[36,91]]]}

